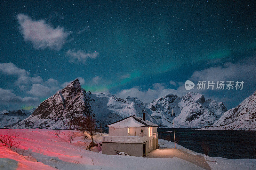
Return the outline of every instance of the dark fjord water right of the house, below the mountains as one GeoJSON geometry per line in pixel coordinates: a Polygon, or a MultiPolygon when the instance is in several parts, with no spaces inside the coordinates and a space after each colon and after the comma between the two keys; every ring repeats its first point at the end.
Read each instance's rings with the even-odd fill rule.
{"type": "MultiPolygon", "coordinates": [[[[108,133],[108,129],[104,129],[108,133]]],[[[173,129],[157,129],[158,138],[174,142],[173,129]]],[[[192,151],[204,153],[202,142],[208,145],[211,157],[228,159],[256,159],[256,131],[195,131],[175,129],[176,143],[192,151]]]]}

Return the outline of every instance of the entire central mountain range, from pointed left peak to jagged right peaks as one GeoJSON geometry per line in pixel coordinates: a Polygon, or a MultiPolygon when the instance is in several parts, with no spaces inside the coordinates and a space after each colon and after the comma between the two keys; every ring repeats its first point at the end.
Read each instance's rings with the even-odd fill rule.
{"type": "Polygon", "coordinates": [[[31,116],[14,128],[66,128],[68,121],[78,121],[92,115],[99,126],[135,115],[159,124],[172,126],[172,107],[175,127],[200,128],[214,124],[227,111],[223,103],[208,99],[199,93],[185,96],[169,94],[151,103],[142,103],[137,97],[126,99],[111,94],[92,94],[81,88],[76,79],[64,89],[42,102],[31,116]]]}

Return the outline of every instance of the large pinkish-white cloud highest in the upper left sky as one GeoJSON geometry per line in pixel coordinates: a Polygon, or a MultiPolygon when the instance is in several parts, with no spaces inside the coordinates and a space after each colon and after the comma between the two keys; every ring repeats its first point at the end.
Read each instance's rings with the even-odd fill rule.
{"type": "Polygon", "coordinates": [[[57,26],[54,28],[43,19],[32,20],[25,14],[18,14],[16,18],[24,40],[30,41],[36,49],[49,47],[53,50],[60,50],[67,42],[66,38],[70,32],[66,32],[63,27],[57,26]]]}

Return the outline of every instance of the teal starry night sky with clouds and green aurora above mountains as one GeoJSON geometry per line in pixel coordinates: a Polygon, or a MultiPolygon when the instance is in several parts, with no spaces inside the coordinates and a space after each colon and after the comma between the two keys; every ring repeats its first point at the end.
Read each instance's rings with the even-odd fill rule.
{"type": "Polygon", "coordinates": [[[255,1],[1,1],[0,110],[30,109],[79,78],[150,102],[190,91],[235,107],[256,90],[255,1]],[[185,89],[185,81],[244,81],[185,89]]]}

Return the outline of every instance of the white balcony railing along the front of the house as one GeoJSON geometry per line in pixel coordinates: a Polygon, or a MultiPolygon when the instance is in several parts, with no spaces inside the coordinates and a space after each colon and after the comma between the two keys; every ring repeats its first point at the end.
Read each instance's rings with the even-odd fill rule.
{"type": "Polygon", "coordinates": [[[148,141],[147,136],[102,136],[102,142],[144,143],[146,141],[148,141]]]}

